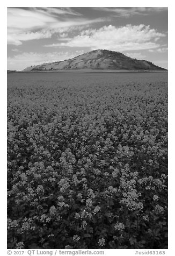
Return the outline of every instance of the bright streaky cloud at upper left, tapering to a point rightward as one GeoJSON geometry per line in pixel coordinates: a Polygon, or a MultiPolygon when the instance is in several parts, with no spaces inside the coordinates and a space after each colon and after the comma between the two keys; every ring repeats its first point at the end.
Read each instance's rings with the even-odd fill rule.
{"type": "Polygon", "coordinates": [[[104,19],[85,19],[70,8],[8,8],[8,44],[51,38],[55,33],[83,29],[104,19]],[[68,17],[67,17],[68,16],[68,17]]]}

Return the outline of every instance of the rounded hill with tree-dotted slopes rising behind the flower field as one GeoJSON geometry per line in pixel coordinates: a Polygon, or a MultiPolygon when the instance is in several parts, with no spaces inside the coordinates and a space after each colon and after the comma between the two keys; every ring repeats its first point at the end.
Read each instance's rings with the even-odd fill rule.
{"type": "Polygon", "coordinates": [[[147,60],[130,58],[120,52],[103,49],[94,50],[75,58],[25,68],[23,71],[54,71],[70,69],[113,69],[113,70],[152,70],[163,71],[147,60]]]}

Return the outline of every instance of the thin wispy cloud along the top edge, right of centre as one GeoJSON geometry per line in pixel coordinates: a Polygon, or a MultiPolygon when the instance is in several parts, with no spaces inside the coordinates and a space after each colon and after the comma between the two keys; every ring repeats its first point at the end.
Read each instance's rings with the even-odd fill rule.
{"type": "Polygon", "coordinates": [[[166,7],[132,7],[132,8],[114,8],[114,7],[92,7],[96,11],[115,13],[118,17],[130,17],[133,15],[149,15],[151,12],[160,12],[167,10],[166,7]]]}

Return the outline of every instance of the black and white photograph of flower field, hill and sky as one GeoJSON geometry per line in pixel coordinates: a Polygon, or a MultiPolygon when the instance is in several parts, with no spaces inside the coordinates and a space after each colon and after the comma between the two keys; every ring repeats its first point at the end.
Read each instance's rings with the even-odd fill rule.
{"type": "Polygon", "coordinates": [[[169,8],[36,5],[6,8],[6,248],[165,254],[169,8]]]}

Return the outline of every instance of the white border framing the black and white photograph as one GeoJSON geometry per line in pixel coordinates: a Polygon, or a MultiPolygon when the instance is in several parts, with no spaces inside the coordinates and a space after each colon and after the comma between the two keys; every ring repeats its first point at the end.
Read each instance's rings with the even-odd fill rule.
{"type": "MultiPolygon", "coordinates": [[[[3,79],[1,80],[1,246],[2,255],[6,254],[6,8],[7,7],[90,7],[90,6],[105,6],[105,7],[132,7],[131,6],[141,6],[141,7],[168,7],[169,8],[169,249],[165,250],[165,255],[174,255],[174,196],[173,196],[173,186],[174,186],[174,87],[173,83],[174,77],[174,10],[175,5],[173,1],[6,1],[1,5],[1,74],[3,79]]],[[[140,250],[148,251],[148,250],[140,250]]],[[[158,250],[160,251],[160,250],[158,250]]],[[[163,250],[162,250],[163,251],[163,250]]],[[[105,255],[134,255],[135,250],[105,250],[105,255]]],[[[12,254],[13,255],[13,254],[12,254]]],[[[57,254],[58,255],[58,254],[57,254]]],[[[143,254],[142,254],[143,255],[143,254]]]]}

